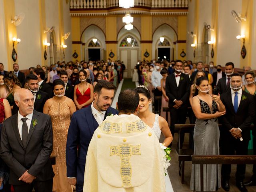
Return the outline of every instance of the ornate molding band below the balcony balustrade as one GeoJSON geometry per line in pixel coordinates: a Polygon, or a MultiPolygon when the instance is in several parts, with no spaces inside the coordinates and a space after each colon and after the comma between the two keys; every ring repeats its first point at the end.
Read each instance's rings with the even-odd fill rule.
{"type": "MultiPolygon", "coordinates": [[[[70,16],[107,16],[125,14],[126,11],[111,11],[111,12],[73,12],[70,16]]],[[[187,15],[187,11],[172,11],[172,12],[150,12],[141,10],[130,10],[131,14],[150,14],[150,15],[187,15]]]]}

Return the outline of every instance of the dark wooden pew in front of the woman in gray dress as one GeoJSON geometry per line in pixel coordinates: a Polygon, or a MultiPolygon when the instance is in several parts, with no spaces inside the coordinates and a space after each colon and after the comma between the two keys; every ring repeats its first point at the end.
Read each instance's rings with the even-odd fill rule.
{"type": "Polygon", "coordinates": [[[204,189],[204,164],[255,164],[256,155],[192,155],[192,164],[200,164],[200,191],[204,189]]]}

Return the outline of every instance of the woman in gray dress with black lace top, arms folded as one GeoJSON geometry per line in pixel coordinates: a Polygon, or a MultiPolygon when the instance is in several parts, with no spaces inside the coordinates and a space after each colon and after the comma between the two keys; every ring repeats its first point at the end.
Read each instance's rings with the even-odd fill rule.
{"type": "MultiPolygon", "coordinates": [[[[206,77],[196,80],[196,96],[192,98],[192,109],[196,116],[194,128],[194,155],[218,155],[220,131],[217,117],[225,114],[225,106],[219,95],[209,95],[206,77]]],[[[220,165],[204,165],[204,190],[220,188],[220,165]]],[[[200,165],[192,165],[190,190],[200,191],[200,165]]]]}

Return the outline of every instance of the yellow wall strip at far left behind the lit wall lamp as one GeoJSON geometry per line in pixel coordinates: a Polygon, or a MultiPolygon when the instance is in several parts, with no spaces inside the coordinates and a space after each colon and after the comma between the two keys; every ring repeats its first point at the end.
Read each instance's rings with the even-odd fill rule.
{"type": "MultiPolygon", "coordinates": [[[[15,4],[14,0],[4,0],[4,18],[5,18],[5,30],[6,30],[6,49],[8,55],[8,67],[5,70],[12,70],[12,64],[14,61],[12,60],[12,38],[17,37],[16,26],[11,23],[11,19],[15,16],[15,4]]],[[[16,52],[19,53],[17,50],[17,46],[15,46],[16,52]]],[[[18,58],[16,62],[18,63],[18,58]]]]}

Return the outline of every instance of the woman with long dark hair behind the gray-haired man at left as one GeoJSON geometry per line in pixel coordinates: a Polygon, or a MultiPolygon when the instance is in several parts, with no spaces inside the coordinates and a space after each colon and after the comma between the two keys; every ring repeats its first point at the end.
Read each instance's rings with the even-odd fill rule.
{"type": "Polygon", "coordinates": [[[8,93],[6,99],[8,100],[8,102],[11,106],[12,114],[16,114],[17,111],[13,110],[14,93],[18,89],[20,89],[22,87],[22,85],[20,84],[20,81],[18,80],[18,78],[16,77],[16,75],[13,72],[8,72],[4,75],[4,82],[5,82],[6,86],[8,86],[8,88],[10,89],[10,92],[8,93]]]}

